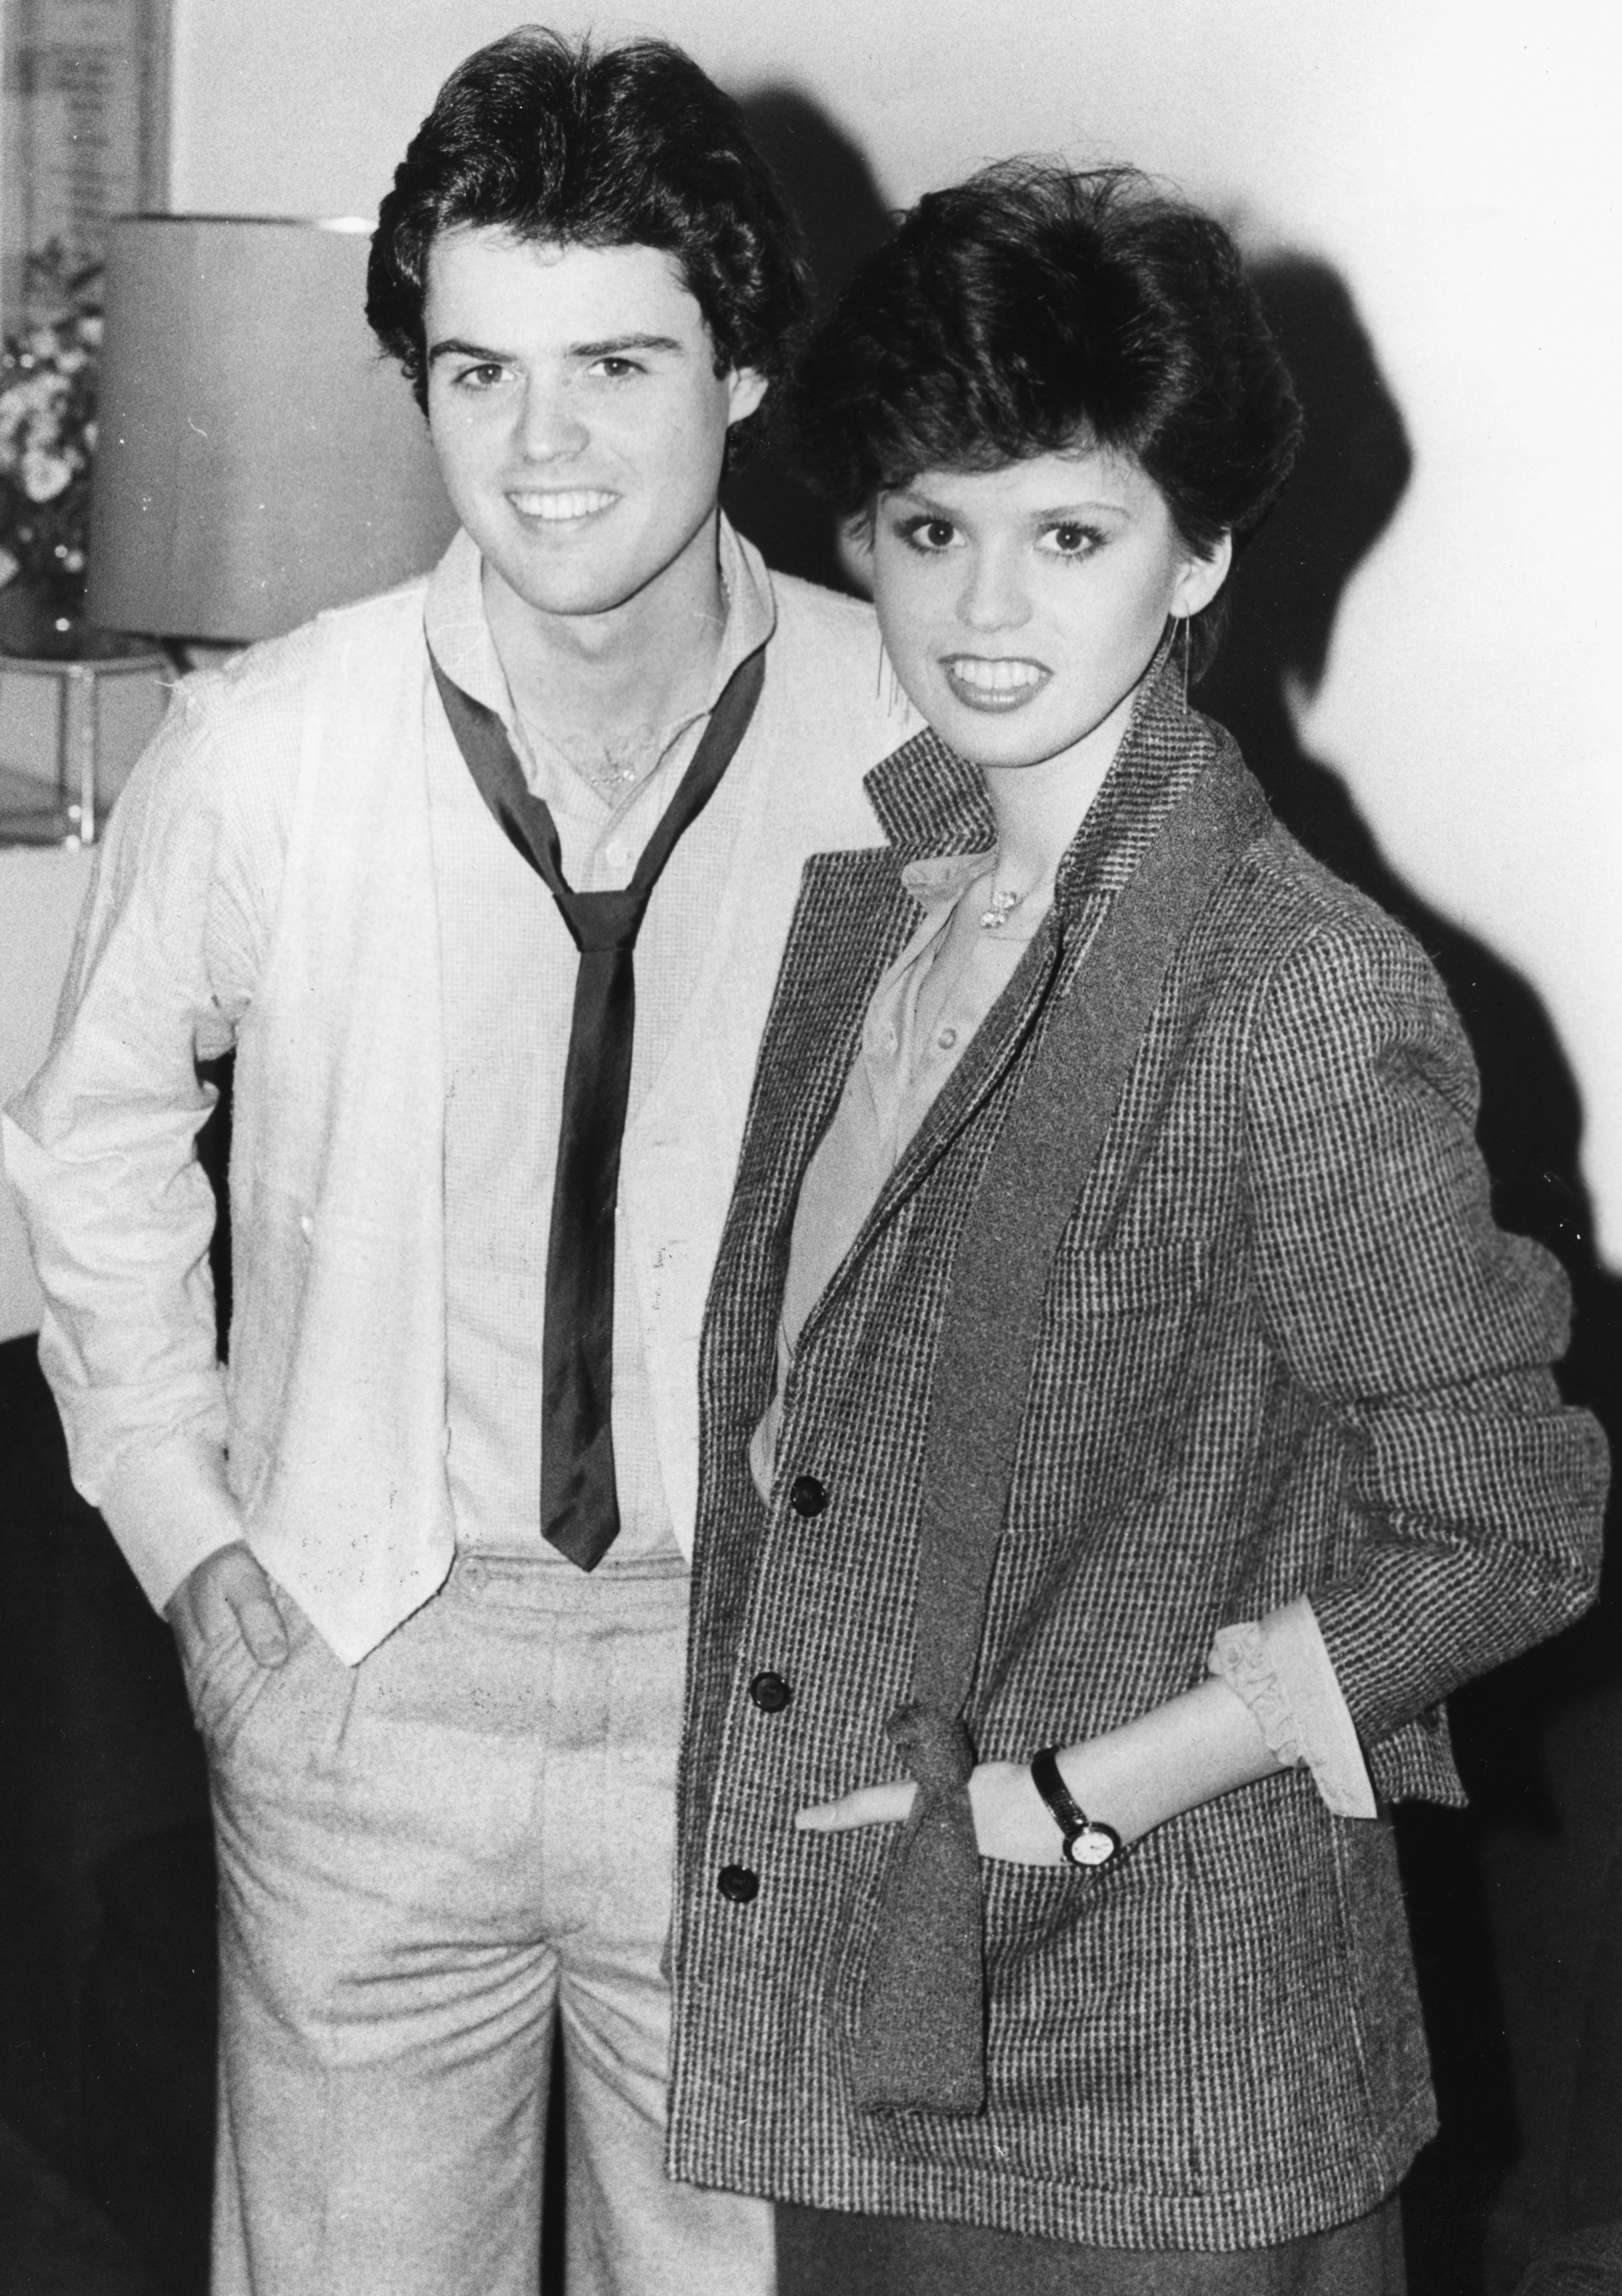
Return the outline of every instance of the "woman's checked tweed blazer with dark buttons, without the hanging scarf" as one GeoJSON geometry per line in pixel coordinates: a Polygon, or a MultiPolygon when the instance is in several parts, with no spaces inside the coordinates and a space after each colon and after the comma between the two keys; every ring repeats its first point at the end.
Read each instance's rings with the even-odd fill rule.
{"type": "MultiPolygon", "coordinates": [[[[1145,689],[1048,923],[801,1332],[762,1506],[746,1446],[801,1176],[918,916],[902,866],[991,843],[980,781],[920,735],[870,776],[890,850],[808,863],[702,1350],[672,1940],[688,2181],[1232,2250],[1374,2206],[1434,2128],[1390,1825],[1328,1816],[1301,1770],[1099,1871],[982,1862],[989,2101],[968,2117],[856,2108],[897,1830],[791,1830],[902,1775],[883,1722],[913,1671],[952,1251],[1055,996],[1223,746],[1170,680],[1145,689]],[[766,1669],[787,1706],[750,1697],[766,1669]]],[[[1051,1270],[966,1708],[980,1759],[1188,1690],[1218,1626],[1308,1593],[1381,1793],[1461,1798],[1441,1699],[1592,1600],[1606,1481],[1549,1373],[1565,1279],[1494,1228],[1473,1114],[1422,953],[1269,827],[1168,974],[1051,1270]]]]}

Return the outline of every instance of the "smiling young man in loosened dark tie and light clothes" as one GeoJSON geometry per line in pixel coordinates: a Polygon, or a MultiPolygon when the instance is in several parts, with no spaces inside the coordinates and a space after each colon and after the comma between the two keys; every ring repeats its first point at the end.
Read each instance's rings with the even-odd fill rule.
{"type": "Polygon", "coordinates": [[[571,2296],[771,2287],[766,2209],[663,2177],[661,1954],[704,1293],[801,861],[909,732],[870,613],[716,510],[801,305],[677,51],[452,76],[369,317],[463,530],[181,689],[11,1111],[211,1756],[216,2296],[535,2291],[555,2014],[571,2296]]]}

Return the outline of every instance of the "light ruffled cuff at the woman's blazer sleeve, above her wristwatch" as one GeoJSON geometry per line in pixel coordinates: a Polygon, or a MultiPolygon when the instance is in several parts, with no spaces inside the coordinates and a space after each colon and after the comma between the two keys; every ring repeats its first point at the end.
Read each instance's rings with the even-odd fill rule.
{"type": "Polygon", "coordinates": [[[1372,1818],[1374,1786],[1324,1635],[1305,1596],[1216,1630],[1207,1674],[1243,1699],[1285,1768],[1312,1773],[1338,1818],[1372,1818]]]}

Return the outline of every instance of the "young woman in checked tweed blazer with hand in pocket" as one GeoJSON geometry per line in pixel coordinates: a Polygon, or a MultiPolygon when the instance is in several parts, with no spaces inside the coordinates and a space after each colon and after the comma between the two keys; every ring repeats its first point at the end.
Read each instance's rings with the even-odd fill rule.
{"type": "Polygon", "coordinates": [[[798,416],[927,730],[808,868],[711,1295],[672,2167],[782,2296],[1374,2296],[1388,1805],[1592,1598],[1604,1449],[1429,964],[1188,700],[1289,381],[1209,218],[1014,165],[798,416]]]}

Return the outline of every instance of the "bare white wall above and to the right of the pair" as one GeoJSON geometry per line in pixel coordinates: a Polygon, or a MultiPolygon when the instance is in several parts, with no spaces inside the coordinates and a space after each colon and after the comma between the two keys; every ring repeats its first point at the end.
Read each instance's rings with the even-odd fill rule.
{"type": "MultiPolygon", "coordinates": [[[[369,211],[512,0],[174,0],[174,204],[369,211]]],[[[544,7],[544,0],[535,0],[544,7]]],[[[1416,471],[1303,735],[1393,863],[1533,980],[1622,1263],[1617,135],[1597,0],[663,0],[794,85],[895,202],[1014,149],[1133,158],[1347,280],[1416,471]]]]}

